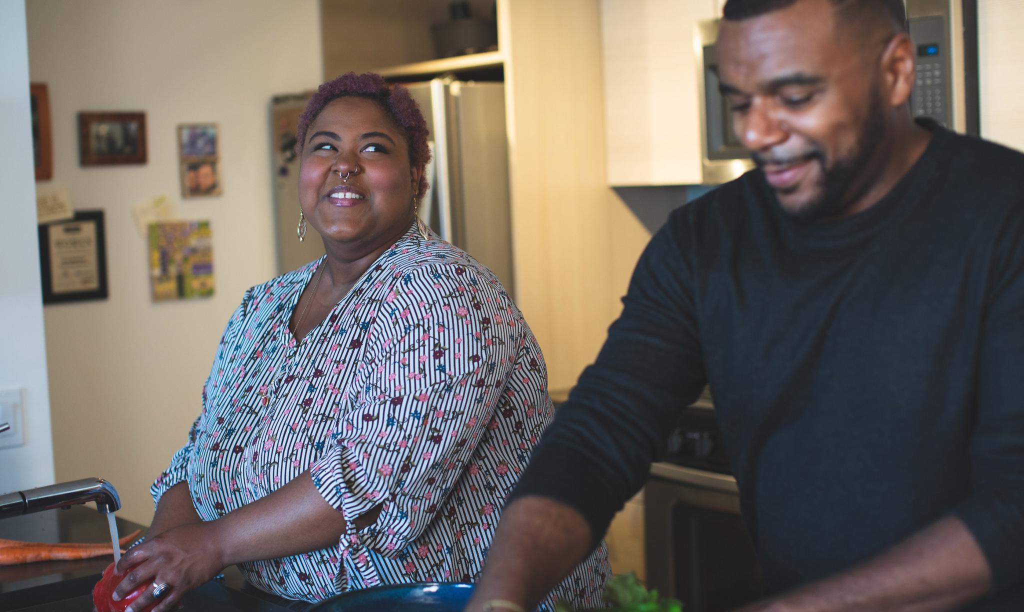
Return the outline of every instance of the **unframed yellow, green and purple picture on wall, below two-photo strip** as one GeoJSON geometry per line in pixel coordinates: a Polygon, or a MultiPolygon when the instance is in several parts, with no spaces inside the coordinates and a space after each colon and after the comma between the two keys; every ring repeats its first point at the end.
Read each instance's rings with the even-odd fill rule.
{"type": "Polygon", "coordinates": [[[150,276],[155,301],[213,295],[213,237],[209,221],[150,224],[150,276]]]}

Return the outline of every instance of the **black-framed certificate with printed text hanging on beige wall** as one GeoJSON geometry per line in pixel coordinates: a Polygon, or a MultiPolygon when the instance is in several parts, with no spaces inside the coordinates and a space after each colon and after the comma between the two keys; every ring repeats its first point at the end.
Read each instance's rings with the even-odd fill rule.
{"type": "Polygon", "coordinates": [[[103,211],[78,211],[71,221],[39,226],[43,304],[105,300],[103,211]]]}

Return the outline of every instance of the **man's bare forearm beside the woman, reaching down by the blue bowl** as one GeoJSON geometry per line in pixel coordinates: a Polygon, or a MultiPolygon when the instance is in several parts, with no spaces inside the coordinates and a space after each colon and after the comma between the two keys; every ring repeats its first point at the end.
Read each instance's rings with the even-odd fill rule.
{"type": "MultiPolygon", "coordinates": [[[[535,495],[509,504],[467,612],[506,601],[532,610],[592,549],[590,526],[572,508],[535,495]]],[[[501,609],[498,607],[498,609],[501,609]]]]}

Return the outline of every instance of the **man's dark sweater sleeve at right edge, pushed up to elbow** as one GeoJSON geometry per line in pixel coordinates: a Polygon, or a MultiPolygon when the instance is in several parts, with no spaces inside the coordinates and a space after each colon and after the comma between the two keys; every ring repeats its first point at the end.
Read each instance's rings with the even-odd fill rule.
{"type": "Polygon", "coordinates": [[[995,593],[1024,580],[1024,215],[1000,237],[980,347],[972,494],[954,510],[988,560],[995,593]]]}

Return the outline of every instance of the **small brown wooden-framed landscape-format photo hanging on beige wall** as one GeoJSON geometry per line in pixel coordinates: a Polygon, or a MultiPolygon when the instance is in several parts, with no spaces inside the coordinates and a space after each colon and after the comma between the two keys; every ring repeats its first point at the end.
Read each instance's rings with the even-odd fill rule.
{"type": "Polygon", "coordinates": [[[82,166],[145,164],[144,113],[79,113],[82,166]]]}

